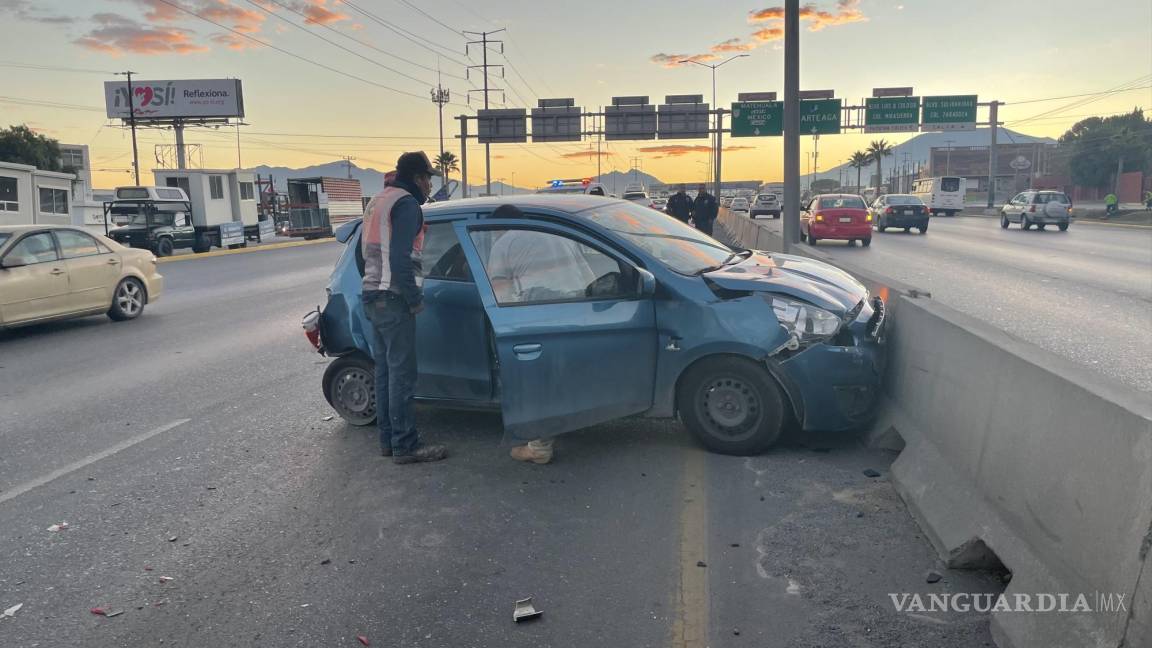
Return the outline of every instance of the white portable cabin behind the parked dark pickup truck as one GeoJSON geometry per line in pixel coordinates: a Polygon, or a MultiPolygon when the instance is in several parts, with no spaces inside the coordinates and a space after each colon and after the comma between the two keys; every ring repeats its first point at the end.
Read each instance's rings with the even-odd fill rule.
{"type": "Polygon", "coordinates": [[[170,169],[152,172],[158,187],[180,187],[192,203],[195,225],[211,227],[234,220],[259,223],[256,174],[240,169],[170,169]]]}

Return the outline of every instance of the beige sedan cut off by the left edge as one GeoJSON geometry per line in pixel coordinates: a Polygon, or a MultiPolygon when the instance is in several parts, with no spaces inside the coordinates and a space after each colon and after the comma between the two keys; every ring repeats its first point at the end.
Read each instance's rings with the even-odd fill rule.
{"type": "Polygon", "coordinates": [[[135,319],[162,289],[151,251],[76,227],[0,226],[0,329],[89,315],[135,319]]]}

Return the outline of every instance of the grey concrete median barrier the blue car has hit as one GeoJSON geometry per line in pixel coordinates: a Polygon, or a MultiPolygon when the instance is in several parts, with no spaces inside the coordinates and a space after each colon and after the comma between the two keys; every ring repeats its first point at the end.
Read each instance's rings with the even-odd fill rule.
{"type": "MultiPolygon", "coordinates": [[[[721,223],[741,244],[782,248],[755,223],[721,223]]],[[[903,440],[892,474],[909,511],[949,567],[1011,571],[1014,611],[993,611],[996,643],[1152,646],[1152,398],[915,287],[836,265],[887,295],[886,402],[871,434],[903,440]],[[1056,610],[1023,609],[1043,610],[1040,595],[1056,610]]]]}

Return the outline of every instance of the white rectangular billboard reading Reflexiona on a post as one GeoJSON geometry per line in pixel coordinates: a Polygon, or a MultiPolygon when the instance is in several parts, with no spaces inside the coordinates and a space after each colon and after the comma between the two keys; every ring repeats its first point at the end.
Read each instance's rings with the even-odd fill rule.
{"type": "MultiPolygon", "coordinates": [[[[132,95],[138,120],[244,116],[238,78],[134,81],[132,95]]],[[[109,119],[129,119],[128,82],[105,82],[104,104],[109,119]]]]}

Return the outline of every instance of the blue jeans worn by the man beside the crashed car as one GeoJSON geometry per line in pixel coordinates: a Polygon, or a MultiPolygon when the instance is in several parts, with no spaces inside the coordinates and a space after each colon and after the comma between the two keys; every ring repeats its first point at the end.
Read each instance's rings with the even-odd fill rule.
{"type": "Polygon", "coordinates": [[[380,447],[411,454],[420,443],[412,413],[416,389],[416,316],[399,295],[367,292],[364,315],[372,322],[376,361],[376,427],[380,447]]]}

